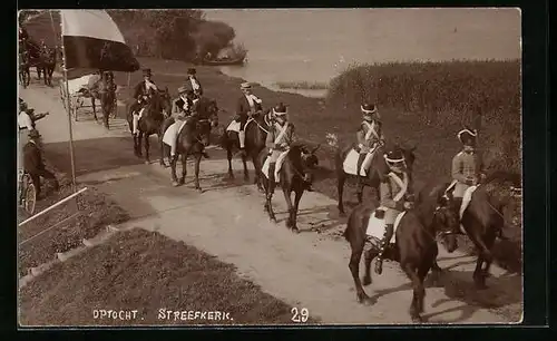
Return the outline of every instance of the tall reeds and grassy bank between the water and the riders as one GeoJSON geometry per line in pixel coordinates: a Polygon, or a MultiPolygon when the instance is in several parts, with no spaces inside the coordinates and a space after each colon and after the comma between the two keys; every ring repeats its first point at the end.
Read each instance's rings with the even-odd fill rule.
{"type": "MultiPolygon", "coordinates": [[[[168,87],[175,95],[186,80],[189,67],[179,61],[153,58],[141,58],[140,62],[154,70],[158,85],[168,87]]],[[[227,125],[241,96],[243,79],[228,77],[211,67],[197,67],[197,74],[206,96],[217,99],[225,110],[219,120],[227,125]]],[[[130,85],[139,80],[140,72],[135,72],[130,85]]],[[[117,75],[117,82],[126,85],[127,75],[117,75]]],[[[325,136],[335,134],[341,145],[352,143],[361,119],[359,104],[362,99],[379,105],[390,140],[418,147],[414,167],[418,187],[430,181],[449,181],[451,159],[461,148],[456,134],[463,124],[472,124],[477,109],[482,115],[480,144],[488,168],[520,174],[520,64],[516,60],[354,66],[331,81],[325,99],[263,87],[255,87],[254,92],[265,107],[280,101],[287,104],[299,135],[307,142],[322,144],[323,148],[317,152],[321,167],[314,187],[333,198],[336,198],[334,148],[326,145],[325,136]]],[[[129,91],[124,90],[120,96],[127,100],[129,91]]],[[[353,187],[345,191],[346,199],[354,201],[353,187]]],[[[508,231],[512,240],[500,242],[496,250],[499,264],[512,271],[521,269],[520,228],[508,231]]],[[[466,238],[462,244],[472,249],[466,238]]]]}

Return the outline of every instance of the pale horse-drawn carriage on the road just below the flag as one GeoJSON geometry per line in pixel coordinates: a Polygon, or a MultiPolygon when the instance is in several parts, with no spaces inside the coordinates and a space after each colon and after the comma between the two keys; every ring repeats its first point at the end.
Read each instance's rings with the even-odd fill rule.
{"type": "MultiPolygon", "coordinates": [[[[99,75],[86,75],[80,78],[68,80],[68,87],[66,87],[66,84],[63,81],[60,82],[60,99],[62,101],[63,108],[66,110],[69,109],[70,115],[74,116],[74,119],[76,121],[78,120],[78,109],[90,107],[92,108],[94,111],[96,110],[95,100],[99,99],[98,98],[99,96],[96,92],[97,91],[96,87],[99,81],[100,81],[99,75]],[[67,90],[69,91],[69,94],[66,92],[67,90]],[[68,96],[69,96],[69,108],[67,108],[68,96]],[[86,105],[85,104],[86,99],[89,99],[91,104],[86,105]]],[[[114,104],[110,110],[110,118],[116,117],[116,110],[117,110],[117,101],[116,101],[116,96],[114,96],[114,104]]],[[[96,113],[94,114],[96,117],[96,113]]]]}

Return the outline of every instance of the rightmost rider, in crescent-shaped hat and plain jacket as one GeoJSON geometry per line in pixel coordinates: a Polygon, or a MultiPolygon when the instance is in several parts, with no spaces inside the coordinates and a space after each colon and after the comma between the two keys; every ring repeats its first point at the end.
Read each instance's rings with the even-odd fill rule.
{"type": "Polygon", "coordinates": [[[457,134],[462,144],[462,150],[452,158],[452,184],[448,192],[452,192],[457,210],[462,204],[462,196],[470,186],[476,186],[486,177],[483,165],[476,153],[476,131],[465,128],[457,134]]]}

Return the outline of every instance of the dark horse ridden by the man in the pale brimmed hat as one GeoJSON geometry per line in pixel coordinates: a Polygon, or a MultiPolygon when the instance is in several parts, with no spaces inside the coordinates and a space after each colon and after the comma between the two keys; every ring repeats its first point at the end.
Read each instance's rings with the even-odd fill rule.
{"type": "MultiPolygon", "coordinates": [[[[252,163],[255,167],[257,155],[265,148],[265,139],[267,138],[267,133],[271,129],[272,118],[270,116],[270,109],[264,113],[253,115],[244,126],[245,131],[245,152],[246,155],[242,155],[242,163],[244,164],[244,181],[250,181],[250,174],[247,173],[247,156],[251,157],[252,163]]],[[[234,178],[234,173],[232,172],[232,156],[233,150],[240,148],[240,137],[236,131],[225,130],[221,145],[226,149],[226,158],[228,159],[228,177],[234,178]]],[[[260,191],[263,191],[262,184],[260,182],[260,174],[255,172],[254,184],[257,185],[260,191]]]]}

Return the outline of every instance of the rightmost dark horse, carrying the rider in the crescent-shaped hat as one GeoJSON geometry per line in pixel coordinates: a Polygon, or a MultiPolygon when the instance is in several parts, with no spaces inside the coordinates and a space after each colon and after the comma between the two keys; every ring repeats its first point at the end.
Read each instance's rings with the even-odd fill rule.
{"type": "Polygon", "coordinates": [[[494,260],[495,241],[508,224],[508,216],[520,205],[520,175],[494,172],[473,191],[462,213],[460,223],[478,251],[472,275],[478,289],[488,288],[486,277],[494,260]]]}

